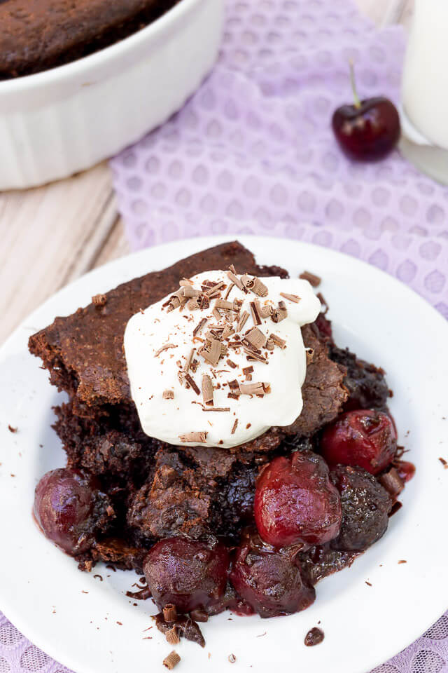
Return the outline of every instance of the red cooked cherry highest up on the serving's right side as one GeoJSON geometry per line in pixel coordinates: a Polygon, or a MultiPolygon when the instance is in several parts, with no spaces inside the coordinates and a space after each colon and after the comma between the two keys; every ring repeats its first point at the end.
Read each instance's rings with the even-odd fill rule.
{"type": "Polygon", "coordinates": [[[391,463],[397,448],[393,422],[383,412],[358,409],[325,428],[321,453],[330,465],[359,465],[377,475],[391,463]]]}

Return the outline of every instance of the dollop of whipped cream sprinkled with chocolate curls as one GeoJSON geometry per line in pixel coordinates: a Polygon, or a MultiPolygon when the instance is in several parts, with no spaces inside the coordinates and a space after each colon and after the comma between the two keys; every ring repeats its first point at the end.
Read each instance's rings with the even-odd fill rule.
{"type": "Polygon", "coordinates": [[[132,399],[146,435],[235,447],[302,411],[300,327],[321,304],[307,280],[205,271],[125,330],[132,399]]]}

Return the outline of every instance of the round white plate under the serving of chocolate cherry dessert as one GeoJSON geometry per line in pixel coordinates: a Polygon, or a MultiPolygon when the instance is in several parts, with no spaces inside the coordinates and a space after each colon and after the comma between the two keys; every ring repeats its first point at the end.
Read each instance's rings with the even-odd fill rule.
{"type": "MultiPolygon", "coordinates": [[[[222,240],[182,240],[92,271],[38,308],[0,351],[0,608],[76,673],[162,670],[172,647],[155,627],[145,631],[155,611],[151,601],[134,606],[123,594],[134,582],[132,573],[104,567],[80,573],[32,522],[34,486],[64,456],[50,429],[50,407],[62,396],[27,353],[27,339],[55,315],[87,304],[92,294],[222,240]],[[8,423],[18,432],[10,433],[8,423]],[[104,581],[94,578],[97,573],[104,581]]],[[[448,459],[448,324],[405,285],[351,257],[291,240],[240,240],[260,263],[282,264],[293,276],[308,269],[325,279],[335,339],[386,369],[400,442],[417,470],[386,535],[351,569],[323,580],[310,609],[270,620],[223,613],[204,625],[204,650],[188,642],[176,647],[179,671],[221,673],[233,666],[271,673],[274,665],[366,672],[419,637],[447,608],[448,470],[438,458],[448,459]],[[407,563],[398,564],[400,559],[407,563]],[[325,640],[307,648],[304,635],[317,623],[325,640]],[[230,653],[237,657],[233,665],[230,653]]]]}

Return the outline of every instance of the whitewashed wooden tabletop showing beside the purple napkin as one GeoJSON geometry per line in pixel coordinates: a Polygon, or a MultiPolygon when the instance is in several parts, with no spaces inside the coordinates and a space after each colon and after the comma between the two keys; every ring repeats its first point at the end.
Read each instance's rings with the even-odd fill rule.
{"type": "MultiPolygon", "coordinates": [[[[407,23],[413,7],[412,0],[356,3],[378,24],[407,23]]],[[[0,345],[60,287],[127,252],[106,162],[38,189],[0,193],[0,345]]]]}

